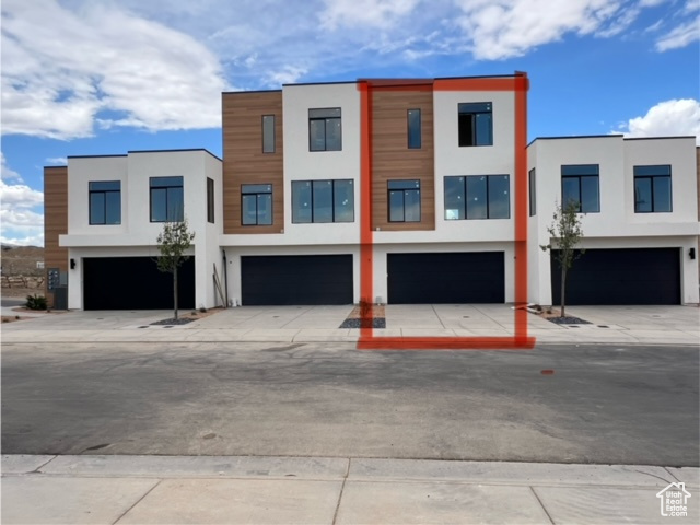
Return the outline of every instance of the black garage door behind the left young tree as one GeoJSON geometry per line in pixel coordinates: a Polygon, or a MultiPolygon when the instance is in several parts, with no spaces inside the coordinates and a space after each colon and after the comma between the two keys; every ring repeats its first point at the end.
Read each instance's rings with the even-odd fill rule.
{"type": "MultiPolygon", "coordinates": [[[[167,310],[173,307],[173,275],[159,271],[151,257],[86,258],[84,310],[167,310]]],[[[195,307],[195,258],[177,271],[178,307],[195,307]]]]}

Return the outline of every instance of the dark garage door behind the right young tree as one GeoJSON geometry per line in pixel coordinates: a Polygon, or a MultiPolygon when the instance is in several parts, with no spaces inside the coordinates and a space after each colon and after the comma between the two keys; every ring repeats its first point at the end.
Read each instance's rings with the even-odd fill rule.
{"type": "MultiPolygon", "coordinates": [[[[567,304],[680,304],[679,248],[586,249],[567,278],[567,304]]],[[[552,303],[561,268],[551,258],[552,303]]]]}

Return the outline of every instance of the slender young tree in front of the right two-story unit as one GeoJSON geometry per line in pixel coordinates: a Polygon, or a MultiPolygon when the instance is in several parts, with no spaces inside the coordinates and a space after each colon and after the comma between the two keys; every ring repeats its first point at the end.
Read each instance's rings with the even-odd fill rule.
{"type": "Polygon", "coordinates": [[[583,238],[579,208],[580,203],[575,200],[570,200],[567,206],[557,205],[553,222],[547,228],[549,237],[557,240],[556,249],[551,244],[539,246],[544,252],[549,250],[550,254],[553,254],[561,267],[561,317],[565,317],[568,272],[573,261],[585,253],[583,248],[576,249],[583,238]]]}

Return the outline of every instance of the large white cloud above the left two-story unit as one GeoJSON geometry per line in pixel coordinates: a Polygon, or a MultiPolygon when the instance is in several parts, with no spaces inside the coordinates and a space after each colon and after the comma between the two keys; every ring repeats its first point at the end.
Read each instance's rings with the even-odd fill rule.
{"type": "Polygon", "coordinates": [[[90,137],[97,115],[149,130],[217,127],[225,89],[202,44],[115,4],[3,2],[3,133],[90,137]]]}

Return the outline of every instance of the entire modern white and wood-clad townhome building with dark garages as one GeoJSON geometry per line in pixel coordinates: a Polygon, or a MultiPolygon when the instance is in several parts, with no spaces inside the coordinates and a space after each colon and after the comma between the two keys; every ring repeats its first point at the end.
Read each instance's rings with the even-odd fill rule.
{"type": "Polygon", "coordinates": [[[513,91],[464,80],[223,93],[223,161],[129,152],[47,167],[49,298],[67,287],[70,308],[168,307],[155,240],[187,218],[184,307],[357,303],[369,207],[373,301],[512,302],[522,153],[530,302],[559,293],[539,245],[562,199],[585,213],[570,304],[698,302],[695,138],[536,139],[518,152],[513,91]]]}

